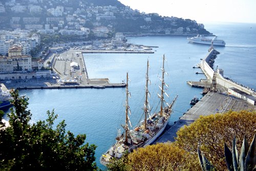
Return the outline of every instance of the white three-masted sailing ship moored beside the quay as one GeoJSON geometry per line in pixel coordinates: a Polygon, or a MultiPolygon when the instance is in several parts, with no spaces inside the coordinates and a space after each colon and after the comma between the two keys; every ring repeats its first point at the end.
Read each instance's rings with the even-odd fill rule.
{"type": "Polygon", "coordinates": [[[124,132],[121,134],[119,131],[116,137],[116,143],[111,146],[111,148],[106,151],[100,157],[100,163],[106,165],[110,163],[112,158],[120,159],[122,155],[127,152],[132,152],[137,148],[144,147],[146,145],[152,144],[164,131],[167,126],[168,120],[172,113],[172,106],[175,103],[178,95],[176,95],[172,104],[168,104],[164,100],[164,95],[169,97],[165,90],[168,85],[164,82],[164,74],[167,74],[164,70],[165,57],[163,56],[163,66],[162,66],[162,78],[161,86],[159,86],[161,93],[157,94],[160,98],[160,111],[150,114],[151,108],[148,103],[150,97],[150,92],[148,91],[148,83],[150,82],[148,78],[148,61],[146,70],[146,86],[145,86],[145,102],[143,107],[143,120],[138,123],[138,125],[133,129],[129,114],[131,114],[129,107],[129,95],[128,90],[128,73],[126,75],[126,99],[125,99],[125,125],[121,125],[124,132]]]}

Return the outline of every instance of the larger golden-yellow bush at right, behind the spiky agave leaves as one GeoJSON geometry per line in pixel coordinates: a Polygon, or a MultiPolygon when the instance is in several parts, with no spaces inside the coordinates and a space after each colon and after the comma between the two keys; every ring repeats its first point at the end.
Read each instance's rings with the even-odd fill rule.
{"type": "Polygon", "coordinates": [[[205,157],[218,169],[226,168],[224,142],[232,146],[232,138],[237,137],[237,148],[246,138],[251,141],[256,129],[256,112],[240,111],[201,116],[193,124],[177,132],[176,143],[184,150],[197,155],[198,145],[205,157]]]}

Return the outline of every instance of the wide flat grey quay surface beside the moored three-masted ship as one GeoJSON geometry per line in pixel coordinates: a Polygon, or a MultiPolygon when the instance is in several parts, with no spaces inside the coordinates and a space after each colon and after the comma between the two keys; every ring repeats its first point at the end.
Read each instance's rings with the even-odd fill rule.
{"type": "Polygon", "coordinates": [[[256,107],[234,96],[217,92],[208,92],[195,106],[190,108],[174,125],[166,130],[155,143],[175,141],[177,131],[185,125],[193,123],[200,117],[200,115],[206,116],[240,110],[255,111],[256,107]]]}

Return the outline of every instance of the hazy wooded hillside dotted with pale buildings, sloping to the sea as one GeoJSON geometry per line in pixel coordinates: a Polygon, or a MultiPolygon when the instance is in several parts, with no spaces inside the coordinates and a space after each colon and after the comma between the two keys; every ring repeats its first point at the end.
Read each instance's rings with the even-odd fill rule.
{"type": "Polygon", "coordinates": [[[0,29],[80,30],[106,27],[126,35],[210,35],[195,20],[145,14],[117,0],[16,0],[0,3],[0,29]]]}

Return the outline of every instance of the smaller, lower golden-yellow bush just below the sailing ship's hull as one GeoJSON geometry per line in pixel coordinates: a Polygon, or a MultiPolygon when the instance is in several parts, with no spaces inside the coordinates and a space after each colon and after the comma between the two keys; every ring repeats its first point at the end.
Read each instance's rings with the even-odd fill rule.
{"type": "Polygon", "coordinates": [[[158,143],[139,148],[108,165],[115,170],[199,170],[197,157],[174,143],[158,143]]]}

